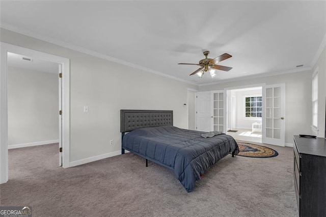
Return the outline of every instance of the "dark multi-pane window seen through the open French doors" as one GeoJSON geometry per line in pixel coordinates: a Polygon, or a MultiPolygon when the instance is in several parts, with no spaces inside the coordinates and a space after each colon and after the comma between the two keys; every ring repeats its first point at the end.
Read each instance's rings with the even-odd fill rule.
{"type": "Polygon", "coordinates": [[[248,96],[244,98],[246,116],[247,118],[261,118],[262,111],[262,97],[248,96]]]}

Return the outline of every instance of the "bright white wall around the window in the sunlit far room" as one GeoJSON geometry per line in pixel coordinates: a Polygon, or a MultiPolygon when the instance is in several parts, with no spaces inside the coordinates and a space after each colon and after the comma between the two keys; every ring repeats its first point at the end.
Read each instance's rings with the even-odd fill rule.
{"type": "MultiPolygon", "coordinates": [[[[233,92],[233,91],[232,91],[233,92]]],[[[261,118],[246,118],[244,113],[244,99],[243,97],[252,95],[262,95],[261,90],[244,90],[235,92],[235,124],[237,129],[252,129],[252,123],[261,122],[261,118]]],[[[232,117],[233,118],[233,117],[232,117]]]]}

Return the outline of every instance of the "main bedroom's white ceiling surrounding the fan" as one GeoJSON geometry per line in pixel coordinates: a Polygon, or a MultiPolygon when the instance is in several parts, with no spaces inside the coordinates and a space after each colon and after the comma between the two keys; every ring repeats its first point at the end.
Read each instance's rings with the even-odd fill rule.
{"type": "Polygon", "coordinates": [[[0,12],[5,29],[197,85],[310,69],[326,33],[325,1],[1,1],[0,12]],[[203,50],[229,53],[220,64],[233,69],[199,78],[177,65],[203,50]]]}

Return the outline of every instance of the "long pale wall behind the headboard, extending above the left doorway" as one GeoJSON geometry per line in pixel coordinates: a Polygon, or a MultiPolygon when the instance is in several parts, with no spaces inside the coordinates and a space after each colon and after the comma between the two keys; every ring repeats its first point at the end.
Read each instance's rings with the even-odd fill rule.
{"type": "Polygon", "coordinates": [[[70,59],[70,161],[121,150],[121,109],[173,110],[174,125],[187,128],[183,104],[187,103],[187,88],[197,86],[5,29],[0,38],[70,59]],[[83,112],[84,105],[89,106],[88,113],[83,112]]]}

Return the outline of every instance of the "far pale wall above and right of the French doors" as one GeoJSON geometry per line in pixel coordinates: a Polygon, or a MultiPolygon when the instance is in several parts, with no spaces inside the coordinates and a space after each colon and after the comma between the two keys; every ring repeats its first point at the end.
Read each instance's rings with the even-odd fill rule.
{"type": "Polygon", "coordinates": [[[293,144],[293,135],[313,133],[310,127],[311,80],[312,72],[303,71],[201,86],[199,91],[224,90],[224,88],[264,83],[266,85],[285,83],[285,143],[293,144]]]}

